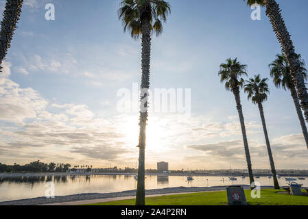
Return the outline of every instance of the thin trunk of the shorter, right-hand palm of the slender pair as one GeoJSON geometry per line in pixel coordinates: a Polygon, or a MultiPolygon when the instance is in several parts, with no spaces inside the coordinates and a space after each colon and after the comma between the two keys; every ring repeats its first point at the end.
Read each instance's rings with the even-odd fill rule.
{"type": "Polygon", "coordinates": [[[273,159],[273,155],[272,155],[272,149],[270,148],[270,140],[268,138],[268,129],[266,128],[262,103],[258,103],[258,107],[259,107],[259,111],[260,111],[260,116],[261,116],[264,136],[265,136],[265,142],[266,142],[266,146],[268,148],[268,157],[270,158],[270,168],[272,170],[272,175],[273,175],[273,180],[274,180],[274,188],[275,188],[275,190],[279,190],[280,187],[279,187],[279,183],[278,183],[278,179],[277,179],[277,175],[276,175],[276,169],[275,169],[274,159],[273,159]]]}

